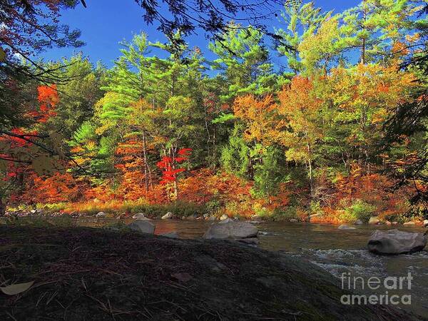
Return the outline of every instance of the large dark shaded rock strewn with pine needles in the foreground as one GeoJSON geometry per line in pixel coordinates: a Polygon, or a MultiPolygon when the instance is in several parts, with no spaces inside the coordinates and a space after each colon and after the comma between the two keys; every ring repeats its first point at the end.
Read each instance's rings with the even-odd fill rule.
{"type": "Polygon", "coordinates": [[[348,306],[305,260],[222,240],[91,228],[0,228],[0,320],[418,320],[348,306]]]}

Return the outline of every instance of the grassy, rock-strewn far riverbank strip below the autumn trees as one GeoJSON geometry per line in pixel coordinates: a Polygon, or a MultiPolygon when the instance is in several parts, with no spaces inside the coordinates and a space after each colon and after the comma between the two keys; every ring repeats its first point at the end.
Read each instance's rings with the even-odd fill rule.
{"type": "Polygon", "coordinates": [[[312,215],[226,215],[222,211],[208,212],[203,205],[192,203],[169,203],[148,205],[146,203],[57,203],[47,205],[37,205],[34,208],[28,206],[18,206],[6,210],[6,217],[39,216],[42,218],[116,218],[131,219],[134,215],[144,215],[146,218],[157,220],[164,218],[168,213],[168,218],[179,220],[225,220],[232,218],[235,220],[253,221],[276,221],[291,223],[315,223],[315,224],[370,224],[370,225],[394,225],[399,226],[428,226],[428,220],[422,218],[394,217],[385,218],[382,215],[365,215],[363,220],[347,217],[337,217],[316,213],[312,215]]]}

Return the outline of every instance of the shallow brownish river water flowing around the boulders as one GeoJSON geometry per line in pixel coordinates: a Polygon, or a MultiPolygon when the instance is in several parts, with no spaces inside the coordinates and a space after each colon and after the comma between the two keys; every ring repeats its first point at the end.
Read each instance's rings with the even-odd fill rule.
{"type": "MultiPolygon", "coordinates": [[[[79,225],[105,225],[109,220],[81,220],[79,225]]],[[[116,221],[116,220],[114,220],[116,221]]],[[[128,222],[127,222],[128,223],[128,222]]],[[[180,238],[200,238],[212,222],[185,220],[156,220],[156,234],[176,231],[180,238]]],[[[428,317],[428,251],[423,250],[412,255],[380,256],[369,253],[367,240],[374,229],[387,229],[385,225],[356,225],[356,230],[338,230],[336,225],[309,223],[265,222],[257,225],[260,248],[279,250],[290,255],[310,260],[332,275],[341,277],[350,272],[351,279],[344,281],[344,287],[354,288],[367,295],[411,295],[411,305],[401,305],[404,309],[428,317]],[[404,277],[411,273],[413,279],[408,289],[407,281],[402,290],[388,290],[383,286],[385,277],[404,277]],[[378,277],[381,286],[378,290],[367,288],[367,280],[378,277]],[[361,281],[365,282],[362,289],[361,281]]],[[[409,232],[424,232],[423,228],[404,228],[409,232]]],[[[393,285],[393,280],[388,285],[393,285]]],[[[390,303],[389,303],[390,304],[390,303]]]]}

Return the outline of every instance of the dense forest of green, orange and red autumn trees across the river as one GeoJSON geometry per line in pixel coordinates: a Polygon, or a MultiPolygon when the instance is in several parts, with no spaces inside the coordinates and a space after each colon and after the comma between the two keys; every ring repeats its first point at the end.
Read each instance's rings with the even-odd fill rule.
{"type": "MultiPolygon", "coordinates": [[[[164,24],[165,43],[134,34],[111,68],[84,47],[31,59],[83,46],[58,21],[80,1],[7,5],[24,2],[0,7],[2,213],[174,203],[330,222],[427,217],[426,1],[364,0],[338,13],[286,1],[273,33],[175,14],[187,25],[164,24]],[[215,35],[207,49],[186,41],[196,27],[215,35]]],[[[150,14],[155,2],[141,5],[150,14]]]]}

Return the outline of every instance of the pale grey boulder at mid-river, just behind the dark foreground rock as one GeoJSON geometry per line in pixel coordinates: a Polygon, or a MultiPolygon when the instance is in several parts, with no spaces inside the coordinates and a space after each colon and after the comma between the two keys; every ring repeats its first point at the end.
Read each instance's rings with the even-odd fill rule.
{"type": "Polygon", "coordinates": [[[245,221],[229,221],[227,223],[214,223],[208,228],[203,238],[239,239],[254,238],[258,228],[245,221]]]}

